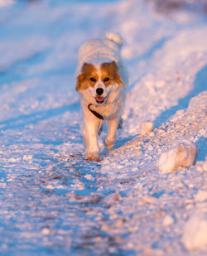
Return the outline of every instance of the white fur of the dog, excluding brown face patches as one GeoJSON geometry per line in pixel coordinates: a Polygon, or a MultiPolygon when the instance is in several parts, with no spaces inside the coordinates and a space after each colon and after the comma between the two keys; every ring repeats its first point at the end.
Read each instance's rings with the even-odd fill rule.
{"type": "Polygon", "coordinates": [[[118,66],[118,75],[121,78],[120,84],[116,83],[105,86],[99,79],[94,87],[90,86],[87,89],[79,89],[81,107],[84,114],[84,144],[86,146],[87,158],[92,161],[101,160],[99,157],[98,133],[100,128],[102,128],[103,120],[94,116],[89,111],[88,106],[92,104],[90,108],[101,114],[103,119],[108,121],[108,133],[105,138],[105,144],[108,149],[111,149],[114,145],[128,85],[128,72],[123,65],[120,54],[122,45],[121,36],[111,32],[107,34],[107,38],[87,41],[79,48],[77,77],[81,74],[84,63],[94,65],[99,73],[103,63],[114,61],[118,66]],[[102,96],[105,99],[103,104],[98,104],[95,99],[97,88],[103,89],[102,96]]]}

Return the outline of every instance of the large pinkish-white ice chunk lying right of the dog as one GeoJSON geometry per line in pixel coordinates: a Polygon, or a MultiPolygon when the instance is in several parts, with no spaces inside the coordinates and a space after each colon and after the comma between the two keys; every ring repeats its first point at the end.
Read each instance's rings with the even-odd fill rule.
{"type": "Polygon", "coordinates": [[[191,142],[181,142],[168,152],[163,152],[158,162],[161,172],[167,173],[179,167],[190,167],[197,156],[197,147],[191,142]]]}

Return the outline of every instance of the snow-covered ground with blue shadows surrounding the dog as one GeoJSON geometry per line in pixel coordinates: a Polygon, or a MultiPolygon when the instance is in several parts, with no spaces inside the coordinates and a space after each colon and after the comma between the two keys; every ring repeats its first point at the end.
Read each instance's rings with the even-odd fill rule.
{"type": "Polygon", "coordinates": [[[1,255],[207,254],[207,16],[180,2],[0,0],[1,255]],[[86,162],[77,51],[106,31],[130,85],[115,148],[86,162]],[[195,165],[159,171],[186,140],[195,165]]]}

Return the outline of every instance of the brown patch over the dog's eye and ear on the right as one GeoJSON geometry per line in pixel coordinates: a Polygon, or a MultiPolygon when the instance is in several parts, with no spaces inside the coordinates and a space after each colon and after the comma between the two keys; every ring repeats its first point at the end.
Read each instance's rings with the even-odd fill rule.
{"type": "Polygon", "coordinates": [[[105,62],[101,65],[101,80],[106,86],[116,84],[123,84],[123,81],[118,74],[118,65],[113,62],[105,62]]]}

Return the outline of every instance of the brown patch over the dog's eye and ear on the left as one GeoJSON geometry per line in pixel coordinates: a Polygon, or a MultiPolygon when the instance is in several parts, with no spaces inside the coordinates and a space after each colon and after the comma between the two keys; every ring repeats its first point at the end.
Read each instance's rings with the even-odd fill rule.
{"type": "Polygon", "coordinates": [[[99,79],[97,69],[93,64],[84,63],[81,74],[77,77],[76,90],[87,89],[95,85],[95,80],[99,79]],[[93,81],[94,79],[94,81],[93,81]]]}

